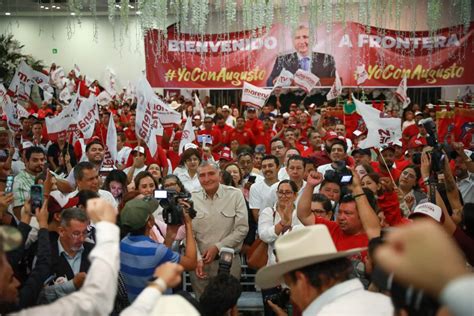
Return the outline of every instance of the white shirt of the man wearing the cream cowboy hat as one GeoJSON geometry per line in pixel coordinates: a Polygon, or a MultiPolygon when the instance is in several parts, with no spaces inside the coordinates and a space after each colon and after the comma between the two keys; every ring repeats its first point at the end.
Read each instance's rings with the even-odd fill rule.
{"type": "Polygon", "coordinates": [[[393,315],[390,297],[364,290],[359,279],[334,285],[303,311],[303,316],[393,315]]]}

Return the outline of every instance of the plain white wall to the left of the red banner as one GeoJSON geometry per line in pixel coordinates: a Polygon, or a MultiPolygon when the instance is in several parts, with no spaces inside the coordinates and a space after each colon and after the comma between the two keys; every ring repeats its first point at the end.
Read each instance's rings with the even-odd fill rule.
{"type": "Polygon", "coordinates": [[[70,70],[77,64],[81,72],[102,80],[110,67],[124,86],[135,81],[145,70],[144,42],[135,17],[130,17],[128,34],[124,28],[115,28],[106,16],[97,17],[97,38],[94,38],[94,19],[81,18],[78,24],[68,17],[1,17],[0,33],[13,34],[25,45],[23,53],[52,62],[70,70]],[[114,38],[115,30],[115,38],[114,38]],[[58,50],[57,54],[52,49],[58,50]]]}

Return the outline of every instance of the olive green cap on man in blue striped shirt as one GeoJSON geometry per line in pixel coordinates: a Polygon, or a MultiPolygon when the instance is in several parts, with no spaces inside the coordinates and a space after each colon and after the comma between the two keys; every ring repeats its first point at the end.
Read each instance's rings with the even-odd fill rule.
{"type": "Polygon", "coordinates": [[[120,212],[120,222],[124,226],[137,230],[145,226],[150,215],[158,208],[156,199],[133,199],[128,201],[122,212],[120,212]]]}

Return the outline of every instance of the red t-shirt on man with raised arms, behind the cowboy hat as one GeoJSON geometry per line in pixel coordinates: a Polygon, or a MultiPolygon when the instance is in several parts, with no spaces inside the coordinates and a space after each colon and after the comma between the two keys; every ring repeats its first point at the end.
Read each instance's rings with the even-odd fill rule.
{"type": "MultiPolygon", "coordinates": [[[[341,230],[339,224],[322,218],[320,216],[314,217],[314,223],[326,225],[329,230],[329,233],[331,234],[332,241],[334,241],[334,244],[336,245],[337,251],[362,248],[367,247],[369,245],[369,238],[365,233],[357,235],[347,235],[341,230]]],[[[367,251],[362,251],[361,255],[362,259],[365,261],[365,258],[367,257],[367,251]]]]}

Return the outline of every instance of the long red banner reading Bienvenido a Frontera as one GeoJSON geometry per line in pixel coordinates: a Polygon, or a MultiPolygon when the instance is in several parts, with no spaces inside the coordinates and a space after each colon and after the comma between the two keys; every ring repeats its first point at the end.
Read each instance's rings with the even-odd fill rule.
{"type": "Polygon", "coordinates": [[[281,24],[256,36],[201,37],[170,27],[167,37],[157,30],[145,37],[147,78],[153,87],[235,89],[244,81],[272,86],[282,68],[306,69],[330,87],[337,68],[343,86],[355,87],[356,67],[365,65],[365,87],[396,87],[405,75],[409,87],[468,85],[474,83],[473,23],[466,32],[456,26],[432,34],[354,22],[334,24],[331,32],[321,26],[311,35],[307,27],[292,32],[281,24]]]}

